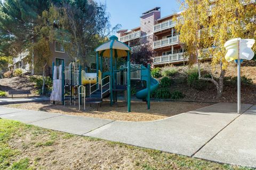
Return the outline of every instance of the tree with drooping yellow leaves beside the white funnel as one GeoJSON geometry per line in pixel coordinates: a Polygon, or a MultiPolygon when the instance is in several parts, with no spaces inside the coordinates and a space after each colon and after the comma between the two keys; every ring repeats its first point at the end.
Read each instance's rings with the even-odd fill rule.
{"type": "MultiPolygon", "coordinates": [[[[256,6],[251,0],[180,0],[176,29],[189,60],[198,64],[199,79],[212,82],[222,95],[228,62],[224,44],[232,38],[256,38],[256,6]],[[207,50],[203,50],[207,49],[207,50]],[[211,78],[201,77],[200,62],[211,58],[211,78]],[[218,78],[213,71],[220,70],[218,78]]],[[[254,51],[255,51],[254,46],[254,51]]]]}

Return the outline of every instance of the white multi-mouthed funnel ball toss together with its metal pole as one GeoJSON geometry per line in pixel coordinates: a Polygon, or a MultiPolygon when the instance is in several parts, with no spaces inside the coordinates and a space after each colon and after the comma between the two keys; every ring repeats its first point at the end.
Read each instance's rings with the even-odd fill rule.
{"type": "Polygon", "coordinates": [[[225,59],[230,62],[235,60],[237,63],[237,113],[241,113],[241,62],[243,60],[252,60],[254,52],[252,46],[254,39],[230,39],[224,44],[227,50],[225,59]]]}

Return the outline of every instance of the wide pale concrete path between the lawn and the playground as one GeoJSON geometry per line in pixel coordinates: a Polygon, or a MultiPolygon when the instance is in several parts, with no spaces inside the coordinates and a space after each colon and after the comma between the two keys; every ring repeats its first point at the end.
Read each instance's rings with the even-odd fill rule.
{"type": "Polygon", "coordinates": [[[0,107],[0,117],[221,163],[256,167],[256,106],[218,103],[153,122],[122,122],[0,107]],[[13,110],[13,111],[12,111],[13,110]]]}

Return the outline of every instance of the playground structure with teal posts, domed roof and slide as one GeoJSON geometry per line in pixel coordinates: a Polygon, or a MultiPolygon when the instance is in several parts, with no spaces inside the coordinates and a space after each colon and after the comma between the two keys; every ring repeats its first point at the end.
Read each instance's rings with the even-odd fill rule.
{"type": "MultiPolygon", "coordinates": [[[[159,83],[150,75],[150,65],[147,67],[142,64],[130,63],[131,48],[119,42],[116,36],[111,36],[109,42],[95,48],[96,52],[96,72],[87,73],[82,70],[80,65],[75,62],[69,63],[67,67],[61,68],[60,76],[62,85],[61,102],[65,105],[78,100],[79,110],[83,103],[101,104],[103,98],[110,96],[110,106],[117,102],[117,93],[123,92],[127,100],[127,111],[131,111],[131,81],[145,81],[146,88],[136,93],[136,97],[147,101],[147,108],[150,109],[150,93],[153,93],[159,83]],[[99,61],[100,58],[100,61],[99,61]],[[103,72],[103,58],[109,59],[109,71],[103,72]],[[117,59],[126,58],[123,66],[117,68],[117,59]],[[114,62],[115,61],[115,62],[114,62]],[[67,93],[68,92],[68,95],[67,93]]],[[[64,62],[62,62],[64,66],[64,62]]],[[[53,67],[54,62],[53,62],[53,67]]],[[[54,75],[54,72],[53,72],[54,75]]]]}

